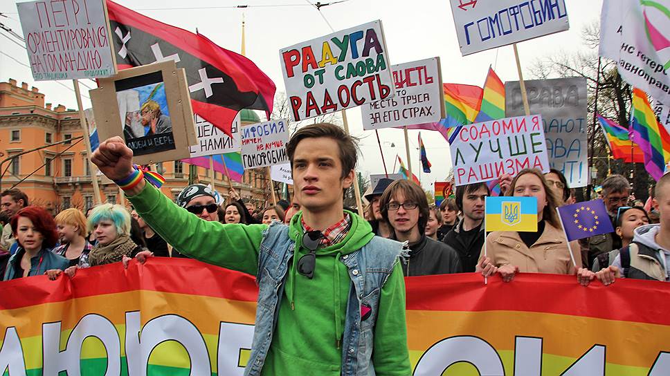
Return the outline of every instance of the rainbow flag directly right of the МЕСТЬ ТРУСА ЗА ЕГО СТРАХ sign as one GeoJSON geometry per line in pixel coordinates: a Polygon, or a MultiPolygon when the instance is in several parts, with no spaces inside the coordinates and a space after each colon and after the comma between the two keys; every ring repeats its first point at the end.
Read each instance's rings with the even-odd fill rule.
{"type": "Polygon", "coordinates": [[[450,144],[458,134],[460,126],[474,122],[482,105],[484,91],[479,86],[442,84],[446,118],[436,123],[416,124],[408,129],[438,131],[450,144]]]}

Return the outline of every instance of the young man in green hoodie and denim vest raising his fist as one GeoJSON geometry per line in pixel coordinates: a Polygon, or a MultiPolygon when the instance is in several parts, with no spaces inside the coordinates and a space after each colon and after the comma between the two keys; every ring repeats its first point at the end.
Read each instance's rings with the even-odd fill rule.
{"type": "Polygon", "coordinates": [[[289,226],[224,225],[191,216],[138,178],[121,138],[91,160],[125,188],[136,211],[195,259],[256,276],[258,306],[245,375],[410,375],[401,243],[343,210],[354,139],[333,124],[287,144],[302,211],[289,226]]]}

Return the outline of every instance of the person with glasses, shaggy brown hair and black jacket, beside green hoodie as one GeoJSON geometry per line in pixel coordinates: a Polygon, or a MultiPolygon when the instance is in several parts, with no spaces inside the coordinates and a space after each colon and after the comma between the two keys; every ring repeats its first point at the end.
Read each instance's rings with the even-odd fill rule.
{"type": "Polygon", "coordinates": [[[393,227],[392,238],[409,244],[409,257],[403,261],[405,276],[461,272],[456,251],[424,234],[430,209],[421,187],[410,180],[396,180],[381,195],[379,206],[381,216],[393,227]]]}

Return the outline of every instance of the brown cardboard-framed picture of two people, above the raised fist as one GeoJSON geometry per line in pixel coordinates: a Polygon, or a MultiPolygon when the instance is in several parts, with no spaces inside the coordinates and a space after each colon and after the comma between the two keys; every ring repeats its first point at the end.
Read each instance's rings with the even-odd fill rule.
{"type": "Polygon", "coordinates": [[[119,71],[89,91],[100,140],[123,138],[136,164],[189,158],[197,142],[183,68],[172,60],[119,71]]]}

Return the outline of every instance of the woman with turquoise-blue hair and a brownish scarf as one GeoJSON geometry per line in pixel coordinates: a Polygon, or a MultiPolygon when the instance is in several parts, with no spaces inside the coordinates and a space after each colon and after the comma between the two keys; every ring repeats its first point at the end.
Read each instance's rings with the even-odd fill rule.
{"type": "Polygon", "coordinates": [[[88,226],[98,240],[89,253],[91,266],[123,261],[123,256],[132,258],[143,250],[130,238],[130,214],[121,205],[96,206],[89,216],[88,226]]]}

